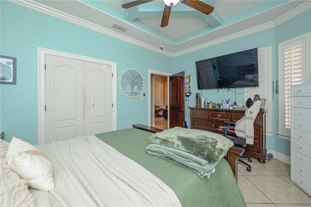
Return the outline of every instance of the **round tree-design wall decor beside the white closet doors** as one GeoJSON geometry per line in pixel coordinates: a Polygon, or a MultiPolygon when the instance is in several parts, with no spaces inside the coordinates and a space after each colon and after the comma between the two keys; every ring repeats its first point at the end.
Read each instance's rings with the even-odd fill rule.
{"type": "Polygon", "coordinates": [[[122,93],[131,98],[137,98],[144,90],[144,79],[136,69],[124,70],[120,76],[122,93]]]}

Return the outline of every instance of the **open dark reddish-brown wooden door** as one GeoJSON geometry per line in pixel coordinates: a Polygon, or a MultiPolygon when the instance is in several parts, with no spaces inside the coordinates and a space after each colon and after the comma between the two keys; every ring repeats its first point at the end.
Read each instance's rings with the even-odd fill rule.
{"type": "Polygon", "coordinates": [[[185,72],[170,76],[170,128],[185,127],[185,72]]]}

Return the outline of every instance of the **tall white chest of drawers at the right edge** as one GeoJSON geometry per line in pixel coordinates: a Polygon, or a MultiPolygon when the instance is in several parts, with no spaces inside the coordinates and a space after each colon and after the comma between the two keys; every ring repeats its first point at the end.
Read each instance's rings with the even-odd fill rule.
{"type": "Polygon", "coordinates": [[[292,86],[291,180],[311,196],[311,83],[292,86]]]}

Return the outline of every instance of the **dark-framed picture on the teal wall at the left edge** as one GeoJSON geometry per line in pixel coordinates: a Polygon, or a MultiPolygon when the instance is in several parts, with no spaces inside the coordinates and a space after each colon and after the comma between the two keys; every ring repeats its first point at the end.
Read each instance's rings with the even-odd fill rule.
{"type": "Polygon", "coordinates": [[[0,55],[0,84],[16,85],[16,57],[0,55]]]}

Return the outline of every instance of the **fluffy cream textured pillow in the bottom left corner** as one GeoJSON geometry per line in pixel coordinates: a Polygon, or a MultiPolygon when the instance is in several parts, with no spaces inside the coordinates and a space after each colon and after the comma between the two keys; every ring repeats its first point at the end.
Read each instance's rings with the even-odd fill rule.
{"type": "Polygon", "coordinates": [[[3,160],[0,160],[0,206],[1,207],[33,207],[33,195],[28,190],[25,180],[13,173],[3,160]]]}

